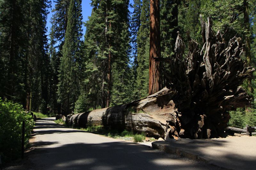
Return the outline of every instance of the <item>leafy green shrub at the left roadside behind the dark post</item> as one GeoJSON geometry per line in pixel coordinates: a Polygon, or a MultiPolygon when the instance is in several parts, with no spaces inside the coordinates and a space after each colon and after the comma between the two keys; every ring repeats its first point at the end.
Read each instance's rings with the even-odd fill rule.
{"type": "Polygon", "coordinates": [[[28,144],[34,120],[20,104],[0,99],[0,151],[3,162],[21,156],[22,121],[25,121],[25,147],[28,144]]]}

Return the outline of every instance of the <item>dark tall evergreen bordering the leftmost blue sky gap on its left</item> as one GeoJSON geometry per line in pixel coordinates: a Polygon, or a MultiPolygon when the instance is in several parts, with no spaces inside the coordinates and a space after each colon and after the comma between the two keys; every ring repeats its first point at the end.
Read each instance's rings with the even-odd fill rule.
{"type": "Polygon", "coordinates": [[[48,0],[33,0],[29,4],[27,110],[31,105],[31,110],[40,110],[42,113],[47,112],[49,103],[50,57],[47,54],[46,36],[47,8],[49,7],[48,0]]]}

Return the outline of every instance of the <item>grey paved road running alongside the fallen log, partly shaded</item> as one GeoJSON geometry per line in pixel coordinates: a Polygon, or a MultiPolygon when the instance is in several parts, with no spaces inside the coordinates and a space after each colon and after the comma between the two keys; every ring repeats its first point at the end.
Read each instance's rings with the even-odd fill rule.
{"type": "Polygon", "coordinates": [[[66,128],[53,120],[36,121],[32,140],[35,149],[29,153],[32,169],[220,169],[146,145],[66,128]]]}

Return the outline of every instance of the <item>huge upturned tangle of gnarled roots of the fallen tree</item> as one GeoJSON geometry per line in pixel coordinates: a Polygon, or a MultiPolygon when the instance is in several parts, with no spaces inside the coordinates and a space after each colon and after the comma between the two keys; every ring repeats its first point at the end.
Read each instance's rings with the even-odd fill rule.
{"type": "MultiPolygon", "coordinates": [[[[232,38],[225,48],[220,32],[214,36],[212,21],[201,18],[204,46],[190,39],[189,52],[183,58],[184,44],[178,35],[175,54],[165,69],[166,86],[173,91],[175,119],[167,120],[168,137],[216,138],[227,127],[228,110],[250,105],[250,98],[239,85],[252,76],[254,68],[246,67],[240,56],[244,47],[240,38],[232,38]]],[[[159,60],[159,59],[156,59],[159,60]]]]}

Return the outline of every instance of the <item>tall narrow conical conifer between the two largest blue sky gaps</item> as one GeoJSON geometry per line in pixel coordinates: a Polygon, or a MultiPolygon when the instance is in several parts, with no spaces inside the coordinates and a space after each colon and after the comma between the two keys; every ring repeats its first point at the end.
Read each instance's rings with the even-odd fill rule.
{"type": "Polygon", "coordinates": [[[80,94],[82,72],[82,14],[81,0],[71,0],[68,10],[68,25],[60,58],[58,101],[65,114],[74,111],[80,94]]]}

